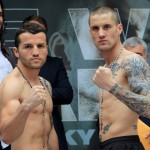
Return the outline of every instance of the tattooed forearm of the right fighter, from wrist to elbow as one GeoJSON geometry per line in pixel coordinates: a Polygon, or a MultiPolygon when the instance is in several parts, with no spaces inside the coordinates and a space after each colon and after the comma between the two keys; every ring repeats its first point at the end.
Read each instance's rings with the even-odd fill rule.
{"type": "Polygon", "coordinates": [[[111,94],[117,97],[121,102],[127,105],[132,111],[138,115],[150,118],[150,101],[149,95],[135,94],[119,84],[115,85],[109,90],[111,94]]]}

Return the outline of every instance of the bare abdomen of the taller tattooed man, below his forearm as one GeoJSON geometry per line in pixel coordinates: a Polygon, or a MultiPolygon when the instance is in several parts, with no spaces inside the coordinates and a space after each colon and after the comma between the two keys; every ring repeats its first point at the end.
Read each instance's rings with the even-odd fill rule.
{"type": "Polygon", "coordinates": [[[138,115],[110,93],[106,92],[105,95],[102,111],[103,129],[99,131],[101,141],[137,135],[138,115]]]}

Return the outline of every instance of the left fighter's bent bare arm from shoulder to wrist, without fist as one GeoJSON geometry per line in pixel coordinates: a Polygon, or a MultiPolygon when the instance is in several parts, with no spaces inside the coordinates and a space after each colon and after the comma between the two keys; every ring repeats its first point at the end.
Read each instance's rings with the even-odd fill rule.
{"type": "MultiPolygon", "coordinates": [[[[7,84],[2,84],[0,89],[0,131],[1,139],[12,143],[23,132],[30,111],[17,99],[16,87],[7,84]]],[[[19,89],[17,91],[21,93],[19,89]]]]}

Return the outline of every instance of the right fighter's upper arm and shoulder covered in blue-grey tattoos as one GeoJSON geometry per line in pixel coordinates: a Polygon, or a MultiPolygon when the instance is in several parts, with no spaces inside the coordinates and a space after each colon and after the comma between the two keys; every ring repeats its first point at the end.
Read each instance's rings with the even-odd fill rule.
{"type": "Polygon", "coordinates": [[[125,72],[132,92],[147,95],[150,94],[150,68],[140,56],[130,56],[124,62],[125,72]]]}

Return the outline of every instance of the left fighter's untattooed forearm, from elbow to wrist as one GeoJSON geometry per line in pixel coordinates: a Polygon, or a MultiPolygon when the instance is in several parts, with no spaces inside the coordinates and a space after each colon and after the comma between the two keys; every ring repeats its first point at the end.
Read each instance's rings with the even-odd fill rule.
{"type": "Polygon", "coordinates": [[[29,109],[22,103],[15,113],[2,120],[1,138],[5,143],[12,143],[22,134],[29,113],[29,109]]]}

